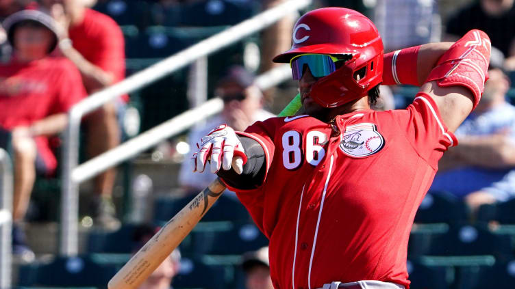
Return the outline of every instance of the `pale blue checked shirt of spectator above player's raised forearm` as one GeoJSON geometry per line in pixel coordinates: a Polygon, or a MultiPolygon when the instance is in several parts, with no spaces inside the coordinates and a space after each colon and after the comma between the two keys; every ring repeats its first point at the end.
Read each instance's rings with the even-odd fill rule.
{"type": "Polygon", "coordinates": [[[386,52],[440,41],[442,21],[432,0],[378,0],[374,23],[386,52]]]}

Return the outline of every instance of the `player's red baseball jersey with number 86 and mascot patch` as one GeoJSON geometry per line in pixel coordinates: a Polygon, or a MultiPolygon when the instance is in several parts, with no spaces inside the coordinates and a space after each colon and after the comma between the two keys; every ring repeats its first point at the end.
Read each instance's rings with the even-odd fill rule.
{"type": "Polygon", "coordinates": [[[438,160],[457,144],[434,101],[364,110],[326,123],[307,115],[256,122],[266,179],[234,187],[269,238],[275,288],[379,280],[409,287],[407,240],[438,160]]]}

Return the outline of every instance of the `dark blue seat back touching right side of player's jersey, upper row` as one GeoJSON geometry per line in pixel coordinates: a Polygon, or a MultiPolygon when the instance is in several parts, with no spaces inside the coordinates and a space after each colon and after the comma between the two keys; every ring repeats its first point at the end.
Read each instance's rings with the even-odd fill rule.
{"type": "Polygon", "coordinates": [[[467,218],[464,202],[446,192],[429,192],[416,212],[415,223],[461,223],[467,218]]]}

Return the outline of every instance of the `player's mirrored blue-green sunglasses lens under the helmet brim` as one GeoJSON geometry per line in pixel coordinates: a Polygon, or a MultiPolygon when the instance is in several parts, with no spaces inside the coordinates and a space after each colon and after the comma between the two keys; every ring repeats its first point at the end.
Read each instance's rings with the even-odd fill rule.
{"type": "Polygon", "coordinates": [[[336,70],[334,61],[329,55],[301,55],[291,62],[293,79],[299,80],[302,78],[305,72],[305,65],[310,68],[310,72],[314,77],[325,77],[336,70]]]}

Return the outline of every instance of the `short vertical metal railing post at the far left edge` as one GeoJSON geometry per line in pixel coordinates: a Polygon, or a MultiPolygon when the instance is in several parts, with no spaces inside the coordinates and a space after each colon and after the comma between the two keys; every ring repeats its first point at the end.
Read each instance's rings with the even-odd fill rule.
{"type": "Polygon", "coordinates": [[[12,163],[0,148],[0,288],[11,288],[12,163]]]}

